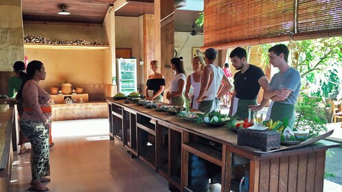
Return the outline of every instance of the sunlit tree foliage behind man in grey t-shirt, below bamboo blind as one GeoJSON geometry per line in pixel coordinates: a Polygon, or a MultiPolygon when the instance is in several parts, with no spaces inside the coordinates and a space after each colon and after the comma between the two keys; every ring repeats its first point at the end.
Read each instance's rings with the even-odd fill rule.
{"type": "MultiPolygon", "coordinates": [[[[308,87],[312,97],[328,97],[334,86],[341,86],[342,77],[342,37],[310,40],[290,40],[282,42],[290,49],[288,63],[299,71],[302,86],[308,87]]],[[[269,47],[258,47],[262,66],[269,64],[269,47]]]]}

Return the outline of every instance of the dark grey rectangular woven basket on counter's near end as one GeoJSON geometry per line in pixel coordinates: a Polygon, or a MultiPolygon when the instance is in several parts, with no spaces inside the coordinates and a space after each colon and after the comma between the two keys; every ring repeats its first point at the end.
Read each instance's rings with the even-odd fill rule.
{"type": "Polygon", "coordinates": [[[247,129],[239,129],[238,145],[247,145],[261,149],[263,152],[268,152],[271,149],[280,149],[280,132],[258,132],[247,129]]]}

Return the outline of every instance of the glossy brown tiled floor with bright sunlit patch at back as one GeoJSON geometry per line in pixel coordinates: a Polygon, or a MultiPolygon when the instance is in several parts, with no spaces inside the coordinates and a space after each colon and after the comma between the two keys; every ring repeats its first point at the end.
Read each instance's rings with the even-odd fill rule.
{"type": "MultiPolygon", "coordinates": [[[[54,122],[50,191],[168,191],[164,178],[108,134],[108,119],[54,122]]],[[[27,191],[30,181],[30,154],[15,152],[10,191],[27,191]]]]}

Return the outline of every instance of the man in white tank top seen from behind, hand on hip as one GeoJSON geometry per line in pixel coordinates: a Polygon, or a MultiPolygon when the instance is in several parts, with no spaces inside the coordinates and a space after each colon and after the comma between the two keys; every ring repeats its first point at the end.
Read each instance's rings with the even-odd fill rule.
{"type": "Polygon", "coordinates": [[[231,82],[229,82],[223,69],[218,67],[215,63],[217,51],[214,48],[205,50],[205,67],[201,75],[201,89],[196,101],[199,103],[198,110],[202,112],[212,112],[219,110],[218,98],[226,95],[231,89],[231,82]],[[221,82],[226,86],[222,88],[220,93],[221,82]]]}

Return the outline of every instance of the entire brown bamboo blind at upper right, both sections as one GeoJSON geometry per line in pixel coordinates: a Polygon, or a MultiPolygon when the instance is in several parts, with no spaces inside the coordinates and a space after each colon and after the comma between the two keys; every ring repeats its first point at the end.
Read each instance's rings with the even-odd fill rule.
{"type": "Polygon", "coordinates": [[[341,36],[342,6],[339,2],[205,0],[202,49],[341,36]]]}

